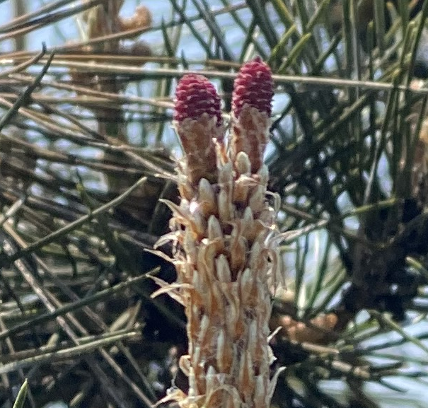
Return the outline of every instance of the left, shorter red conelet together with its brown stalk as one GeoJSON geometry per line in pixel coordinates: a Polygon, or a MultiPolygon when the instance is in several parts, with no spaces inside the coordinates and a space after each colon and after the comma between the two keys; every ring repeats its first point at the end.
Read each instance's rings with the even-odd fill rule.
{"type": "Polygon", "coordinates": [[[185,173],[193,187],[202,178],[212,181],[216,177],[213,139],[223,136],[220,104],[216,89],[204,76],[187,74],[178,82],[173,119],[185,152],[185,173]]]}

